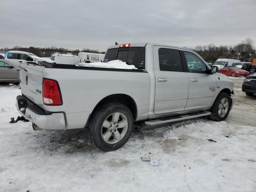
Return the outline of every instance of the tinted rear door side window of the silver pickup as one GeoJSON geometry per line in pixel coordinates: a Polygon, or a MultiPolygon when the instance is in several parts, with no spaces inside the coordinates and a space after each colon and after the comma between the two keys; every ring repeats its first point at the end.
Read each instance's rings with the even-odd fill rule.
{"type": "Polygon", "coordinates": [[[160,48],[158,56],[160,71],[183,72],[179,50],[160,48]]]}

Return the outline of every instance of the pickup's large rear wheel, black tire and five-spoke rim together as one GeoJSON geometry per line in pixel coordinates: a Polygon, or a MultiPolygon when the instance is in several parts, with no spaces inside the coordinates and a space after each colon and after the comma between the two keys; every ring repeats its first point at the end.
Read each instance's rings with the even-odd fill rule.
{"type": "Polygon", "coordinates": [[[104,104],[92,113],[88,130],[90,140],[96,147],[104,151],[117,150],[132,134],[132,113],[120,103],[104,104]]]}

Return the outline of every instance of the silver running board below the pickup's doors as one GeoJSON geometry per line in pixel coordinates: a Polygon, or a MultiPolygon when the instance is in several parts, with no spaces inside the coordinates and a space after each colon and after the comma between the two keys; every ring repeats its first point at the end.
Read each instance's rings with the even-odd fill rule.
{"type": "Polygon", "coordinates": [[[170,122],[175,122],[175,121],[181,121],[181,120],[187,120],[187,119],[193,119],[193,118],[197,118],[197,117],[207,116],[210,114],[211,114],[211,112],[209,112],[209,111],[201,111],[201,112],[190,113],[190,114],[186,114],[186,115],[164,117],[164,118],[154,119],[151,121],[145,121],[145,124],[146,125],[159,125],[159,124],[164,124],[164,123],[170,123],[170,122]]]}

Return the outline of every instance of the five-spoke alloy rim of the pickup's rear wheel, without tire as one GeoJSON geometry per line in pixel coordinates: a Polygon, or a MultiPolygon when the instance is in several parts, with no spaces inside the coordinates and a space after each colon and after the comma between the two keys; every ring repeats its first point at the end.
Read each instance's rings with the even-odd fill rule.
{"type": "Polygon", "coordinates": [[[114,144],[124,138],[128,129],[128,121],[124,114],[115,112],[110,114],[103,122],[101,136],[108,144],[114,144]]]}

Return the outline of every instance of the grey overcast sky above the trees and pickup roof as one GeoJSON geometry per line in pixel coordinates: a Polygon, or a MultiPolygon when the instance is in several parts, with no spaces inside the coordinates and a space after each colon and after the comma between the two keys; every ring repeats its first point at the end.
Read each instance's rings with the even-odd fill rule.
{"type": "Polygon", "coordinates": [[[256,42],[256,0],[3,0],[0,18],[0,48],[256,42]]]}

